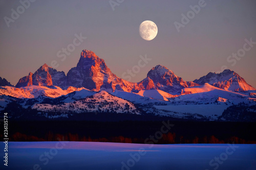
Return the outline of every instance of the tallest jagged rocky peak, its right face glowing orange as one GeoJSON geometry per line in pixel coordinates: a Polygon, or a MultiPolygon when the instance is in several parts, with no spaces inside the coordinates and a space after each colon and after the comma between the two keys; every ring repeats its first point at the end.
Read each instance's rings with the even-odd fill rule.
{"type": "Polygon", "coordinates": [[[69,70],[67,74],[67,86],[84,87],[99,91],[102,89],[131,91],[132,85],[118,78],[106,66],[103,59],[89,50],[81,52],[76,67],[69,70]]]}

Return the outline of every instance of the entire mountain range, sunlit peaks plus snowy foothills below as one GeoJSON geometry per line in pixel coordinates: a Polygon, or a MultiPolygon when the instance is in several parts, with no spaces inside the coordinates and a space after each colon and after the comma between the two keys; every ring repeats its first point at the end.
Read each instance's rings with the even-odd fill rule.
{"type": "MultiPolygon", "coordinates": [[[[77,66],[67,76],[44,64],[20,78],[15,87],[2,78],[0,86],[0,110],[8,112],[15,103],[16,107],[36,110],[36,115],[48,118],[111,112],[250,121],[256,114],[256,89],[232,70],[220,74],[209,72],[189,82],[157,65],[148,71],[145,79],[132,83],[117,77],[103,59],[88,50],[81,52],[77,66]],[[234,105],[246,105],[249,116],[246,114],[241,120],[238,115],[244,114],[243,110],[234,115],[239,119],[230,117],[232,114],[226,110],[234,105]]],[[[13,116],[21,115],[13,113],[13,116]]]]}

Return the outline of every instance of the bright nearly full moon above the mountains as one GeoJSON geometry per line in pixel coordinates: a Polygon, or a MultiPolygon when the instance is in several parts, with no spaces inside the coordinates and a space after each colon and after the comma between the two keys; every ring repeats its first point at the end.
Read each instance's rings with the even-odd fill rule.
{"type": "Polygon", "coordinates": [[[157,25],[151,20],[145,20],[140,24],[139,32],[144,40],[153,40],[157,36],[157,25]]]}

